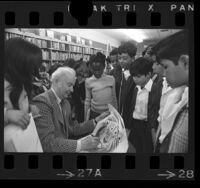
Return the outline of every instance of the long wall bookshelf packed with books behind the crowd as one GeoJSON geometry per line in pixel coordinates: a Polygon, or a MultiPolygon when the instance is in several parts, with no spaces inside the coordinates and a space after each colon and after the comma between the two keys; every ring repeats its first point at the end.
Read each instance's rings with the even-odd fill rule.
{"type": "Polygon", "coordinates": [[[83,61],[88,61],[90,56],[97,52],[107,54],[106,44],[101,45],[104,48],[93,47],[95,41],[88,42],[89,39],[84,38],[77,41],[74,36],[49,29],[5,29],[5,39],[13,37],[22,37],[41,48],[42,61],[47,63],[48,68],[55,63],[63,63],[68,58],[74,60],[83,58],[83,61]]]}

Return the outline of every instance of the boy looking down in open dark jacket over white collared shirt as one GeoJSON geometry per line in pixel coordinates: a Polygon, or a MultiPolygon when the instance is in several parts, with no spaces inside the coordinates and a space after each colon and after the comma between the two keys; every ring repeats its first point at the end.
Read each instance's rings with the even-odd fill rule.
{"type": "Polygon", "coordinates": [[[161,92],[151,80],[152,64],[148,59],[138,58],[130,66],[136,87],[130,92],[126,106],[126,126],[131,130],[129,141],[137,153],[153,152],[153,142],[158,126],[157,118],[161,92]]]}

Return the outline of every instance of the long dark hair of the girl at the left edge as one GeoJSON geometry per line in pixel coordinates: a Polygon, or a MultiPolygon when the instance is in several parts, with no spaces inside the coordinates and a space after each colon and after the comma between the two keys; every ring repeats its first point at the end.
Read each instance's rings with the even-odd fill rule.
{"type": "Polygon", "coordinates": [[[18,109],[22,89],[31,97],[32,78],[37,76],[42,63],[42,51],[36,45],[22,39],[11,38],[5,42],[4,78],[11,84],[10,100],[18,109]]]}

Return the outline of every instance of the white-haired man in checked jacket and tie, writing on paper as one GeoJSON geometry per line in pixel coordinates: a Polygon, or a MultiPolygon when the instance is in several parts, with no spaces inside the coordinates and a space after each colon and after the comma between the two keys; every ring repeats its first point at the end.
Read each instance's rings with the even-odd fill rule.
{"type": "Polygon", "coordinates": [[[82,124],[74,123],[67,97],[73,92],[75,71],[69,67],[60,67],[52,74],[51,79],[51,89],[33,99],[33,103],[40,111],[35,124],[43,151],[81,152],[97,148],[99,140],[96,137],[89,135],[79,140],[71,140],[69,135],[91,133],[97,122],[105,118],[108,112],[82,124]]]}

